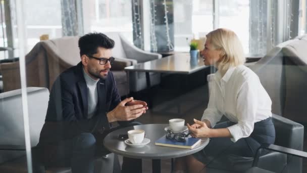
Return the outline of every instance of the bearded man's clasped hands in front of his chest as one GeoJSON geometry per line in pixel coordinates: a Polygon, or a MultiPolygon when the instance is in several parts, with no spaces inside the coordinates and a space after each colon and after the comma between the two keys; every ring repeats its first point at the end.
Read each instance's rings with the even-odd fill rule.
{"type": "Polygon", "coordinates": [[[148,108],[147,104],[142,101],[133,101],[133,98],[127,98],[121,101],[115,109],[107,114],[109,122],[113,121],[129,121],[141,116],[148,108]],[[125,106],[128,102],[131,102],[128,106],[125,106]],[[145,105],[144,105],[145,104],[145,105]]]}

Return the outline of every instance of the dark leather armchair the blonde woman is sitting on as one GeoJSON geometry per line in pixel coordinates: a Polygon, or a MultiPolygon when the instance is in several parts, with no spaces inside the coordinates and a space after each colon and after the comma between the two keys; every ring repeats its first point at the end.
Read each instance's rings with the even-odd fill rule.
{"type": "MultiPolygon", "coordinates": [[[[303,125],[287,118],[273,114],[273,123],[276,130],[275,145],[302,151],[303,149],[303,125]]],[[[301,172],[302,159],[286,155],[276,151],[261,149],[262,155],[258,157],[258,166],[273,172],[301,172]]],[[[245,172],[252,167],[253,158],[237,155],[227,156],[227,162],[231,165],[227,168],[208,167],[207,172],[245,172]],[[214,171],[210,171],[214,170],[214,171]],[[220,171],[218,170],[220,169],[220,171]]],[[[216,162],[214,165],[223,165],[216,162]]]]}

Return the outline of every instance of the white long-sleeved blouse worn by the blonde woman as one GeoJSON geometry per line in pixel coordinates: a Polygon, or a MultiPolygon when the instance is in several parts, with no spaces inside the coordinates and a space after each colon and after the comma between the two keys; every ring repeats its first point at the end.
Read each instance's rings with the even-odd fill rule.
{"type": "Polygon", "coordinates": [[[223,115],[236,122],[227,127],[233,142],[249,137],[255,122],[272,116],[272,101],[257,74],[248,67],[229,68],[223,77],[217,71],[211,86],[208,108],[201,120],[209,120],[212,127],[223,115]]]}

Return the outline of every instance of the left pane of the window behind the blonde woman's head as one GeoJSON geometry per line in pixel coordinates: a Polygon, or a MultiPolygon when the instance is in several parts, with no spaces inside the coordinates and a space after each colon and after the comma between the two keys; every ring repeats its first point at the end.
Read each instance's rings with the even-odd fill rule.
{"type": "Polygon", "coordinates": [[[189,51],[187,39],[205,36],[213,29],[212,0],[174,0],[175,51],[189,51]]]}

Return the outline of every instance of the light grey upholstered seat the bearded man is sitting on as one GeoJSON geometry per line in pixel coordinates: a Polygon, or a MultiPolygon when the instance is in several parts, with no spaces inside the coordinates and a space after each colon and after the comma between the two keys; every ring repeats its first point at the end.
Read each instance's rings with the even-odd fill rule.
{"type": "MultiPolygon", "coordinates": [[[[70,167],[44,167],[37,148],[39,134],[43,126],[49,100],[46,88],[26,89],[28,120],[32,147],[33,172],[71,172],[70,167]]],[[[0,94],[0,172],[28,172],[24,134],[24,115],[21,90],[0,94]]],[[[94,172],[120,172],[117,155],[109,154],[96,158],[94,172]],[[113,169],[114,168],[114,169],[113,169]]]]}

